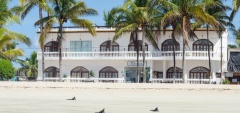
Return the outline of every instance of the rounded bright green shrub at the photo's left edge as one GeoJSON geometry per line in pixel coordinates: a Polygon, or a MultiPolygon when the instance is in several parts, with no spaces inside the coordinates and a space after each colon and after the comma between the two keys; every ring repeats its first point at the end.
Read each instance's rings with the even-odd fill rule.
{"type": "Polygon", "coordinates": [[[0,80],[9,80],[14,77],[14,67],[9,60],[0,60],[0,80]]]}

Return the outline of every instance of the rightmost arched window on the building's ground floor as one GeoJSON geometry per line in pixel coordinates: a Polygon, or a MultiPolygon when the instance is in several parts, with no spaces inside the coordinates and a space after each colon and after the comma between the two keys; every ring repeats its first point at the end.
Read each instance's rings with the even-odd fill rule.
{"type": "Polygon", "coordinates": [[[189,79],[209,79],[209,69],[205,67],[195,67],[189,72],[189,79]]]}

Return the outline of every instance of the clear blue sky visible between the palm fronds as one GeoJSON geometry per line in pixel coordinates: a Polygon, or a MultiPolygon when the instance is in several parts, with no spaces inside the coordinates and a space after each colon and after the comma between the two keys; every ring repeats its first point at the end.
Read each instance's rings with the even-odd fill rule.
{"type": "MultiPolygon", "coordinates": [[[[19,0],[13,0],[12,3],[10,4],[11,6],[18,5],[19,0]]],[[[87,19],[91,20],[94,24],[98,26],[104,26],[105,22],[103,20],[103,12],[104,11],[109,11],[113,7],[121,6],[124,2],[124,0],[82,0],[86,3],[87,7],[93,8],[98,11],[98,16],[92,16],[92,17],[87,17],[87,19]]],[[[232,0],[225,0],[225,3],[228,6],[232,6],[232,0]]],[[[229,12],[230,13],[230,12],[229,12]]],[[[236,28],[240,27],[240,11],[237,13],[233,20],[233,24],[236,26],[236,28]]],[[[8,26],[8,29],[25,34],[31,39],[32,45],[30,47],[27,47],[26,45],[19,44],[18,48],[21,48],[24,50],[25,55],[21,57],[21,59],[25,59],[26,57],[29,57],[30,54],[33,51],[39,51],[39,46],[38,46],[38,35],[37,31],[39,30],[38,26],[34,26],[34,23],[39,19],[38,15],[38,8],[35,7],[28,15],[27,17],[22,21],[21,25],[11,25],[8,26]]],[[[67,25],[70,26],[70,25],[67,25]]],[[[229,44],[234,44],[234,37],[232,36],[231,33],[229,33],[229,39],[228,43],[229,44]]],[[[18,64],[14,64],[14,67],[19,67],[18,64]]]]}

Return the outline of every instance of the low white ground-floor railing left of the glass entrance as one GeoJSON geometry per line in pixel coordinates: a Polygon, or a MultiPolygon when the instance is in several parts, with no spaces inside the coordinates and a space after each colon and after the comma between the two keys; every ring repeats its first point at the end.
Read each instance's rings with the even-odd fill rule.
{"type": "MultiPolygon", "coordinates": [[[[59,78],[44,78],[44,81],[57,82],[59,78]]],[[[63,78],[66,82],[110,82],[124,83],[124,78],[63,78]]]]}

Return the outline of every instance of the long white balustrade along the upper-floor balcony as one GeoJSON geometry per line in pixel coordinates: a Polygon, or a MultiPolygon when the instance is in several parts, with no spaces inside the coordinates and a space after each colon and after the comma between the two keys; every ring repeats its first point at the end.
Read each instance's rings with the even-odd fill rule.
{"type": "MultiPolygon", "coordinates": [[[[44,52],[45,59],[57,60],[59,56],[58,52],[44,52]]],[[[139,52],[139,57],[142,58],[143,53],[139,52]]],[[[183,52],[176,51],[176,59],[182,59],[183,52]]],[[[220,60],[220,53],[210,52],[212,60],[220,60]]],[[[38,60],[41,60],[42,52],[38,52],[38,60]]],[[[135,51],[109,51],[109,52],[62,52],[63,59],[136,59],[137,53],[135,51]]],[[[153,60],[171,60],[173,59],[172,51],[146,51],[146,59],[153,60]]],[[[207,51],[186,51],[186,59],[199,59],[207,60],[208,52],[207,51]]]]}

